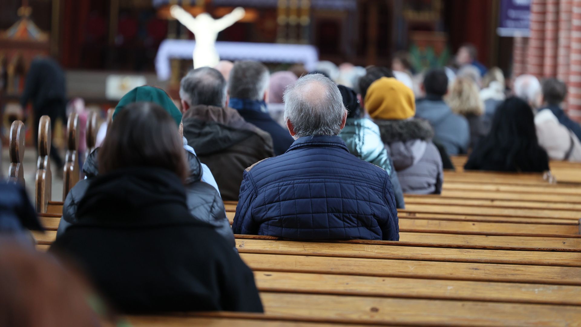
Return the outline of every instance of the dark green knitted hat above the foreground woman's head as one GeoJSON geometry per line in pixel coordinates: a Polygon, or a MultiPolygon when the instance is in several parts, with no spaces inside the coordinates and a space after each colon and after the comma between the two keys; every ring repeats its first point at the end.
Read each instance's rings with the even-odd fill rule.
{"type": "Polygon", "coordinates": [[[180,110],[175,106],[174,102],[164,90],[152,86],[139,86],[123,95],[123,98],[119,100],[119,104],[115,107],[113,119],[115,119],[115,116],[117,116],[125,106],[134,102],[153,102],[162,106],[162,108],[166,109],[167,113],[170,114],[171,118],[175,120],[175,123],[180,126],[180,110]]]}

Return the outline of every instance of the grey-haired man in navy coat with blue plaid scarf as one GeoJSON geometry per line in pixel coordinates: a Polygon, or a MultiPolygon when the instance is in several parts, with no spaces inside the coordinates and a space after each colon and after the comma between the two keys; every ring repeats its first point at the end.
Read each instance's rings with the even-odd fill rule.
{"type": "Polygon", "coordinates": [[[272,137],[274,154],[284,154],[292,144],[289,131],[268,113],[266,101],[270,73],[260,62],[238,61],[228,80],[229,106],[236,109],[246,122],[266,131],[272,137]]]}

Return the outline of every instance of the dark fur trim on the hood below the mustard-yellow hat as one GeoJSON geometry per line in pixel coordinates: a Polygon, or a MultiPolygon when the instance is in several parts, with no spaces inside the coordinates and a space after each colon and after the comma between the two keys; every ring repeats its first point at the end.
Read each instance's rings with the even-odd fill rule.
{"type": "Polygon", "coordinates": [[[434,132],[430,123],[423,119],[406,120],[375,120],[383,143],[389,144],[397,141],[431,140],[434,132]]]}

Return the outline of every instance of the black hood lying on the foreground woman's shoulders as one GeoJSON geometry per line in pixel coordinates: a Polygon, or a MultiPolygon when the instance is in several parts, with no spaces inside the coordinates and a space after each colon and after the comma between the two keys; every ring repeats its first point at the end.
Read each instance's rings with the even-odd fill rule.
{"type": "Polygon", "coordinates": [[[167,205],[183,207],[188,212],[185,189],[177,175],[163,168],[123,168],[91,182],[78,204],[77,219],[81,224],[97,222],[101,226],[192,221],[190,215],[168,218],[163,214],[167,205]]]}

